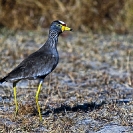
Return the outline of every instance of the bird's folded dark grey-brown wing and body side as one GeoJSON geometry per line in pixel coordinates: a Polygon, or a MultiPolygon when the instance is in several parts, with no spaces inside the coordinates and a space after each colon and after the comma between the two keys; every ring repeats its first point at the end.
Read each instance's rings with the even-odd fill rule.
{"type": "Polygon", "coordinates": [[[58,64],[58,56],[55,57],[51,53],[35,52],[23,60],[14,70],[12,70],[6,78],[6,81],[17,81],[20,79],[48,75],[58,64]]]}

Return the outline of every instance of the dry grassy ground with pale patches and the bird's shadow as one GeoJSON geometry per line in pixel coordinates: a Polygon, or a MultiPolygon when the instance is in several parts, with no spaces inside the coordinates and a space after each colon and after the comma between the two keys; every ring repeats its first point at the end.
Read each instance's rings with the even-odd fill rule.
{"type": "MultiPolygon", "coordinates": [[[[0,78],[45,43],[48,30],[0,31],[0,78]]],[[[37,81],[17,84],[19,114],[14,116],[11,83],[0,85],[2,133],[132,133],[132,35],[65,32],[59,37],[60,61],[45,79],[39,103],[37,81]]]]}

